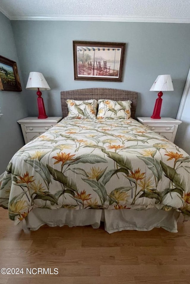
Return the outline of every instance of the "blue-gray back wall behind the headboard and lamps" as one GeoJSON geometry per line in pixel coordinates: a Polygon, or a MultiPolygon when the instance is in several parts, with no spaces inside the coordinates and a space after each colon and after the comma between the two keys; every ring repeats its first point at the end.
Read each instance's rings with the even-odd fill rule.
{"type": "MultiPolygon", "coordinates": [[[[42,72],[51,90],[43,92],[46,113],[61,115],[60,91],[110,87],[137,91],[137,116],[150,116],[158,75],[171,74],[174,92],[165,92],[161,116],[176,117],[190,66],[190,24],[88,21],[12,21],[24,84],[30,71],[42,72]],[[74,81],[73,40],[127,43],[123,82],[74,81]]],[[[25,91],[28,112],[37,115],[35,91],[25,91]]]]}

